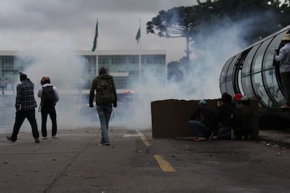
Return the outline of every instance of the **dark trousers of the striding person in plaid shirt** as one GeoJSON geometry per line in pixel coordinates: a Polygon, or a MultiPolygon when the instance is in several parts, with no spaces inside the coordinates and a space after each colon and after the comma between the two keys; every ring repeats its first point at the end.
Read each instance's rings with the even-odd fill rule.
{"type": "Polygon", "coordinates": [[[17,136],[20,130],[20,127],[22,126],[22,123],[24,122],[25,118],[29,121],[29,124],[32,127],[32,135],[34,138],[39,138],[39,130],[37,129],[37,123],[35,118],[35,110],[19,110],[15,113],[15,123],[13,127],[13,133],[11,135],[11,139],[13,141],[17,141],[17,136]]]}

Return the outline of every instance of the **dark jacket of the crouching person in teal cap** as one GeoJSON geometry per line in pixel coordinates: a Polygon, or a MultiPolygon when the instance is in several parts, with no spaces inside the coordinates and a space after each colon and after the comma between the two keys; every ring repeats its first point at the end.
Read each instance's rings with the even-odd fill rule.
{"type": "Polygon", "coordinates": [[[212,108],[207,105],[198,106],[195,112],[191,115],[191,120],[198,120],[205,124],[211,131],[216,130],[216,115],[212,108]]]}

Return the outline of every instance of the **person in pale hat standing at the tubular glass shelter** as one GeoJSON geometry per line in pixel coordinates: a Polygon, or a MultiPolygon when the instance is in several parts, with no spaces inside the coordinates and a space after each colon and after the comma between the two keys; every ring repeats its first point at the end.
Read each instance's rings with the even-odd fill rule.
{"type": "Polygon", "coordinates": [[[279,64],[279,71],[282,81],[282,90],[285,95],[286,103],[282,108],[290,108],[290,34],[284,34],[282,37],[282,44],[284,45],[279,53],[275,52],[274,59],[279,64]]]}

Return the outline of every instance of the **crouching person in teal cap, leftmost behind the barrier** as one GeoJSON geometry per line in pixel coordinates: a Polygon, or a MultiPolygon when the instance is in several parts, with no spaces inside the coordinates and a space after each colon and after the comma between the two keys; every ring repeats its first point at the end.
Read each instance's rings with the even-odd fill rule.
{"type": "Polygon", "coordinates": [[[201,100],[198,108],[191,115],[188,122],[195,136],[194,141],[211,140],[216,129],[216,117],[212,108],[207,106],[207,101],[201,100]]]}

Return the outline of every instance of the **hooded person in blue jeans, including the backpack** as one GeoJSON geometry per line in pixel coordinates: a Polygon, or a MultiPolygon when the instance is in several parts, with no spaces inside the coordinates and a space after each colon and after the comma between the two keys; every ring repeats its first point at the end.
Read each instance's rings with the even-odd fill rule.
{"type": "Polygon", "coordinates": [[[110,145],[109,120],[113,110],[112,104],[113,107],[117,107],[117,93],[113,76],[107,74],[105,68],[99,69],[99,76],[92,80],[90,87],[90,108],[94,106],[94,98],[97,104],[97,113],[102,130],[100,145],[110,145]]]}

